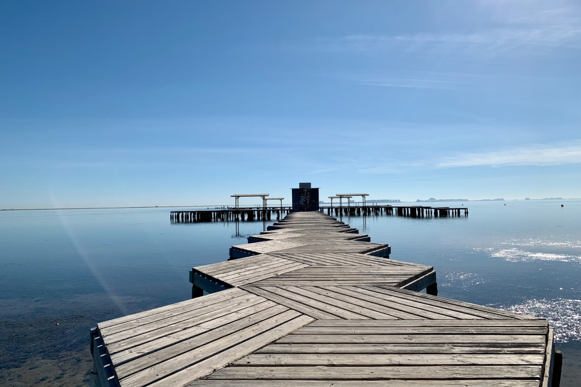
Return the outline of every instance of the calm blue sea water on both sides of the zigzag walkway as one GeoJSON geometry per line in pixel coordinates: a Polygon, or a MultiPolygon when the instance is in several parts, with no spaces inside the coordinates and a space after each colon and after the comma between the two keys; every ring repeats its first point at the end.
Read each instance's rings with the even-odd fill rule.
{"type": "MultiPolygon", "coordinates": [[[[343,221],[392,245],[390,258],[434,266],[440,296],[551,320],[562,385],[579,385],[581,201],[464,205],[468,218],[343,221]]],[[[172,225],[163,208],[0,211],[0,385],[86,385],[89,328],[188,299],[192,266],[225,261],[270,223],[172,225]]]]}

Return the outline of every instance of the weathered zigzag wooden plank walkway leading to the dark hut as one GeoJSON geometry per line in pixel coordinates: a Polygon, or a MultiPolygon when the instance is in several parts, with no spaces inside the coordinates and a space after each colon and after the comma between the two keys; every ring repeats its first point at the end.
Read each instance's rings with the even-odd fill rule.
{"type": "Polygon", "coordinates": [[[438,297],[433,267],[357,236],[291,212],[253,255],[194,267],[195,298],[92,330],[102,386],[558,385],[547,320],[438,297]]]}

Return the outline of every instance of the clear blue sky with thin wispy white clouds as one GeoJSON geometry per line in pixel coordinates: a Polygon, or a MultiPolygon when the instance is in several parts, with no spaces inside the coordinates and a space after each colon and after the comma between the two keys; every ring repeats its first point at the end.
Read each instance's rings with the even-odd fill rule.
{"type": "Polygon", "coordinates": [[[577,1],[4,1],[0,45],[0,208],[581,197],[577,1]]]}

